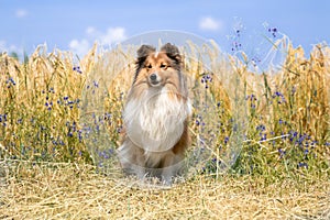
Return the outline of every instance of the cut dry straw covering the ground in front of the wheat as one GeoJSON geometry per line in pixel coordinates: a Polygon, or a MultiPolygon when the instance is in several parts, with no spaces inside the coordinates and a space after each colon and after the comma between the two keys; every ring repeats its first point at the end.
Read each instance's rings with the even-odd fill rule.
{"type": "Polygon", "coordinates": [[[4,161],[1,167],[0,219],[330,218],[330,182],[322,178],[196,176],[164,190],[89,165],[4,161]]]}

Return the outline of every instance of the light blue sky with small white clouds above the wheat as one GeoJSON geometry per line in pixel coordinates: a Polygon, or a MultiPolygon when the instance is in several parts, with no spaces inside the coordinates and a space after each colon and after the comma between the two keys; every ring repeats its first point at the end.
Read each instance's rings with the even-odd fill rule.
{"type": "Polygon", "coordinates": [[[18,53],[46,43],[50,51],[84,54],[96,40],[114,44],[153,30],[213,38],[224,52],[235,29],[249,47],[257,47],[258,35],[268,28],[307,52],[330,37],[328,0],[0,0],[0,51],[18,53]]]}

